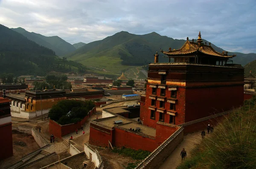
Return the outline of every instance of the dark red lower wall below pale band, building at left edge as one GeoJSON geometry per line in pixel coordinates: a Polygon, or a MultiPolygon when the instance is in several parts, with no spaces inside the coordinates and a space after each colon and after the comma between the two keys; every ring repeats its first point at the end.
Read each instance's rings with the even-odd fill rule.
{"type": "Polygon", "coordinates": [[[13,155],[12,151],[12,123],[0,125],[0,139],[1,153],[0,159],[8,158],[13,155]]]}

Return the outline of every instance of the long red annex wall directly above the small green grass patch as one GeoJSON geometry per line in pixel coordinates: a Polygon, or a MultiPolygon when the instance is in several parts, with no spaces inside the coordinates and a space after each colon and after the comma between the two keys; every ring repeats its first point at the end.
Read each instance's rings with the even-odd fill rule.
{"type": "Polygon", "coordinates": [[[113,145],[117,147],[125,146],[136,150],[142,149],[152,152],[159,146],[155,143],[154,139],[143,137],[142,135],[137,135],[133,132],[117,128],[115,128],[114,132],[113,145]]]}

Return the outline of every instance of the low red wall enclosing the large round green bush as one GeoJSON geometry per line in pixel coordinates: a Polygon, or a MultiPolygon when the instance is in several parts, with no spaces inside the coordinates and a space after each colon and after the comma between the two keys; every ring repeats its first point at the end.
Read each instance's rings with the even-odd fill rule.
{"type": "Polygon", "coordinates": [[[87,116],[85,116],[81,121],[77,123],[72,123],[72,124],[65,124],[61,125],[58,124],[56,121],[49,120],[49,133],[55,135],[58,138],[61,138],[64,135],[67,135],[71,132],[75,132],[76,129],[81,128],[81,124],[84,124],[87,119],[92,115],[93,113],[96,113],[96,107],[93,107],[92,110],[88,113],[87,116]]]}

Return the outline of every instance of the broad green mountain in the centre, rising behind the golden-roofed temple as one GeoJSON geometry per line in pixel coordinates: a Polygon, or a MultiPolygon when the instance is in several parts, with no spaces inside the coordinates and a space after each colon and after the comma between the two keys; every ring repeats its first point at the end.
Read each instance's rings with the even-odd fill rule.
{"type": "MultiPolygon", "coordinates": [[[[98,73],[112,73],[118,76],[123,71],[130,71],[133,68],[141,68],[154,62],[154,54],[159,53],[159,62],[168,62],[167,58],[163,58],[160,48],[168,51],[179,49],[186,40],[173,39],[161,36],[156,32],[145,35],[130,34],[125,31],[106,37],[105,39],[90,42],[82,46],[76,51],[67,55],[67,59],[80,62],[83,65],[96,68],[98,73]]],[[[204,40],[204,42],[207,42],[204,40]]],[[[209,42],[207,42],[209,43],[209,42]]],[[[212,47],[218,51],[224,51],[212,44],[212,47]]],[[[229,52],[228,54],[237,56],[233,59],[234,63],[246,65],[256,59],[256,54],[242,54],[229,52]]],[[[138,72],[132,71],[133,74],[138,72]]]]}

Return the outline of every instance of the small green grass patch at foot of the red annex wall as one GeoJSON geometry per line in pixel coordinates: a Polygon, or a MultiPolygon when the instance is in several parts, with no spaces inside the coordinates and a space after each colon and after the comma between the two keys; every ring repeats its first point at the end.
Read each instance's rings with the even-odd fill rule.
{"type": "Polygon", "coordinates": [[[122,147],[122,149],[117,149],[116,147],[114,147],[112,152],[127,155],[127,156],[133,158],[134,160],[143,160],[150,154],[150,152],[144,151],[141,149],[134,150],[134,149],[129,149],[129,148],[125,148],[125,147],[122,147]]]}

